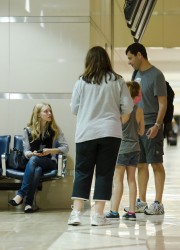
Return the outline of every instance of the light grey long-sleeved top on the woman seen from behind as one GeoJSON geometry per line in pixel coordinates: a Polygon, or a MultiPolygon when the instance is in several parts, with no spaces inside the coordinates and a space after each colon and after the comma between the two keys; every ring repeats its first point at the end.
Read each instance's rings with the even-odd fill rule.
{"type": "Polygon", "coordinates": [[[123,78],[113,79],[100,85],[88,84],[82,78],[76,82],[70,104],[77,116],[76,143],[122,137],[120,115],[131,113],[133,101],[123,78]]]}

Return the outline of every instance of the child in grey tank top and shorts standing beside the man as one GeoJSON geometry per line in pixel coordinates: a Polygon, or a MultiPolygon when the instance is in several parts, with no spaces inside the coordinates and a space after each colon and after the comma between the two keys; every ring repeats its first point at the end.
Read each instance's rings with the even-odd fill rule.
{"type": "Polygon", "coordinates": [[[127,82],[134,108],[131,114],[121,116],[123,138],[121,141],[114,179],[113,194],[111,198],[111,210],[106,214],[106,218],[119,219],[119,204],[123,194],[123,180],[126,170],[129,186],[129,211],[122,216],[123,219],[136,220],[135,203],[137,196],[137,185],[135,172],[139,160],[139,135],[144,134],[144,114],[142,108],[136,103],[141,97],[139,83],[135,81],[127,82]]]}

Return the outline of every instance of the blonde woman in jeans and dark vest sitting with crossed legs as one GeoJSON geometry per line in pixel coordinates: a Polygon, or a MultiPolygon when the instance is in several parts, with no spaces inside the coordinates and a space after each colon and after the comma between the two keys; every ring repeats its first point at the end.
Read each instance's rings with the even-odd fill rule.
{"type": "Polygon", "coordinates": [[[9,200],[12,206],[23,203],[25,213],[32,213],[34,195],[44,172],[57,169],[56,154],[67,153],[68,144],[56,124],[50,104],[36,104],[30,122],[24,129],[23,147],[28,159],[21,189],[9,200]]]}

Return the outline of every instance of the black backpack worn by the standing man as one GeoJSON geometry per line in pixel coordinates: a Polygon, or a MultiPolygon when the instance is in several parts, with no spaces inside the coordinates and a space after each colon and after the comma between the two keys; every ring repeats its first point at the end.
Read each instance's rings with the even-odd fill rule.
{"type": "MultiPolygon", "coordinates": [[[[135,79],[135,76],[137,74],[137,70],[134,70],[133,75],[132,75],[132,80],[135,79]]],[[[169,82],[166,81],[166,88],[167,88],[167,109],[166,113],[163,119],[163,124],[164,124],[164,137],[166,137],[166,129],[167,125],[172,123],[173,119],[173,114],[174,114],[174,90],[170,86],[169,82]]]]}

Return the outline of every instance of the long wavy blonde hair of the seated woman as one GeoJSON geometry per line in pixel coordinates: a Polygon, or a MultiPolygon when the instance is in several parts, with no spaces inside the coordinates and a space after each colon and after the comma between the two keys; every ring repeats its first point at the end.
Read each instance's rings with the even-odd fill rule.
{"type": "Polygon", "coordinates": [[[39,119],[39,113],[41,112],[41,110],[44,106],[50,107],[51,115],[52,115],[51,121],[46,123],[45,131],[48,132],[48,129],[50,128],[54,132],[53,141],[56,140],[60,134],[60,129],[59,129],[59,127],[54,119],[51,105],[49,103],[38,103],[34,106],[30,122],[27,124],[27,126],[31,130],[32,141],[39,139],[39,137],[42,133],[41,123],[40,123],[40,119],[39,119]]]}

